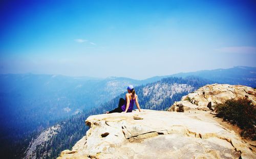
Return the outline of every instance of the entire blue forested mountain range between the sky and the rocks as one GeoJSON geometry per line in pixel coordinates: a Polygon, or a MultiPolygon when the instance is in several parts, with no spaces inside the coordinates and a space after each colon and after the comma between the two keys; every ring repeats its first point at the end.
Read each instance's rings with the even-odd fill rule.
{"type": "MultiPolygon", "coordinates": [[[[55,152],[51,150],[48,156],[56,157],[61,150],[72,146],[85,133],[84,118],[114,108],[118,98],[124,97],[123,92],[129,84],[137,86],[142,108],[164,110],[176,100],[180,100],[183,95],[209,83],[256,87],[256,68],[237,66],[231,69],[156,76],[145,80],[122,77],[101,79],[62,75],[2,74],[1,150],[7,154],[6,156],[19,158],[41,132],[51,126],[56,127],[56,123],[60,127],[65,127],[63,125],[66,124],[66,130],[59,129],[51,140],[53,145],[62,143],[62,146],[58,146],[59,149],[53,146],[56,148],[55,152]],[[77,126],[74,126],[75,122],[78,122],[77,126]],[[64,139],[64,136],[68,138],[64,139]],[[6,147],[8,144],[15,147],[15,150],[6,147]]],[[[44,152],[42,148],[44,146],[38,148],[41,150],[41,153],[37,152],[38,156],[44,152]]]]}

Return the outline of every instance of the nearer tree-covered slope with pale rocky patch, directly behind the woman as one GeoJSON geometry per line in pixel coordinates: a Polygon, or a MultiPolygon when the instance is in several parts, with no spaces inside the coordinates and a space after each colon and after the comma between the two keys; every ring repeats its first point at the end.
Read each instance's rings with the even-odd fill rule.
{"type": "MultiPolygon", "coordinates": [[[[175,101],[179,101],[182,96],[210,83],[213,82],[197,77],[170,77],[164,78],[158,82],[137,86],[135,89],[141,108],[164,110],[175,101]]],[[[70,149],[86,133],[88,127],[84,126],[85,119],[91,115],[103,113],[105,110],[114,109],[118,105],[119,98],[124,97],[125,93],[120,94],[109,102],[59,122],[58,125],[61,127],[60,131],[54,135],[50,141],[42,141],[36,151],[31,152],[32,149],[29,148],[27,154],[29,152],[31,157],[36,158],[40,156],[46,158],[57,157],[62,150],[70,149]]],[[[134,108],[136,108],[136,106],[134,106],[134,108]]],[[[36,139],[31,142],[31,145],[33,145],[34,141],[36,141],[36,139]]]]}

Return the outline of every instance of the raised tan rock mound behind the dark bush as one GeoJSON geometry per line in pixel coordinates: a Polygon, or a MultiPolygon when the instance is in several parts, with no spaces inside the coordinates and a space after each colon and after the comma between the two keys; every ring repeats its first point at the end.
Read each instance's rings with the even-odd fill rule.
{"type": "Polygon", "coordinates": [[[214,110],[214,105],[228,99],[248,98],[256,105],[256,89],[243,85],[211,84],[183,96],[168,111],[214,110]],[[182,105],[182,106],[181,106],[182,105]]]}

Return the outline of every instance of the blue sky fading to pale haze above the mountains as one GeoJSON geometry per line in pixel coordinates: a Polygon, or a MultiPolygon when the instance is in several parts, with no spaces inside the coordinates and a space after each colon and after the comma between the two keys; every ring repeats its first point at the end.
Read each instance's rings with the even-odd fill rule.
{"type": "Polygon", "coordinates": [[[256,66],[256,1],[1,1],[0,73],[121,76],[256,66]]]}

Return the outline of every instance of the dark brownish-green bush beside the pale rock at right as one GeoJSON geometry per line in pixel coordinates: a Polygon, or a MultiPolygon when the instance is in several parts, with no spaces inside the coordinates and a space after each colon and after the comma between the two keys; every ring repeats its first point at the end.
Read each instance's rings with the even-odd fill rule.
{"type": "Polygon", "coordinates": [[[231,124],[237,124],[243,131],[241,136],[256,140],[256,106],[252,101],[243,99],[230,99],[225,103],[215,106],[217,117],[229,121],[231,124]]]}

